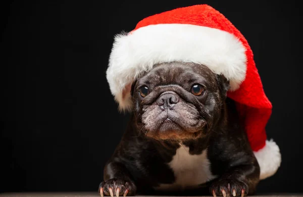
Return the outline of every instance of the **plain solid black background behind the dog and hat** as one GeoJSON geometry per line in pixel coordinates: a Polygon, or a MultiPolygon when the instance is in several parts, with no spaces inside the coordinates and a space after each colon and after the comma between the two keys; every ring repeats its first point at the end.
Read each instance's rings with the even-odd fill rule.
{"type": "Polygon", "coordinates": [[[195,4],[219,10],[246,37],[273,104],[267,134],[282,164],[258,191],[303,192],[298,1],[225,0],[3,4],[0,191],[96,191],[129,117],[105,77],[113,36],[195,4]]]}

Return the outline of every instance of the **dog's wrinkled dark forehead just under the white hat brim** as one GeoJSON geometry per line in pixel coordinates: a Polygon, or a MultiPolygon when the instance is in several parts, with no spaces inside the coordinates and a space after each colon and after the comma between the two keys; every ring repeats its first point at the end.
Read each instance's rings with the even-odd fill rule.
{"type": "Polygon", "coordinates": [[[157,64],[154,68],[139,77],[138,85],[192,85],[201,83],[211,88],[216,85],[216,74],[208,67],[194,63],[170,62],[157,64]]]}

